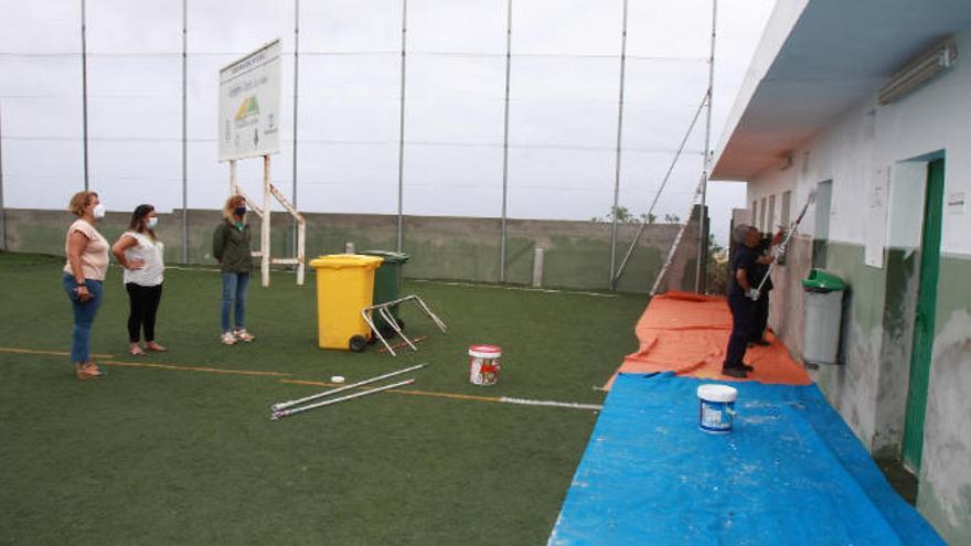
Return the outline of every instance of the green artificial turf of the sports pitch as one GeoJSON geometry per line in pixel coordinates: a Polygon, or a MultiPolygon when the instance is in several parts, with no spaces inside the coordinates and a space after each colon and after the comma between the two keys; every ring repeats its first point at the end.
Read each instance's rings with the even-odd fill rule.
{"type": "MultiPolygon", "coordinates": [[[[60,258],[0,254],[0,347],[66,351],[60,258]]],[[[407,271],[407,269],[406,269],[407,271]]],[[[415,363],[406,389],[599,403],[636,349],[643,297],[406,282],[448,323],[397,358],[317,347],[316,278],[250,287],[252,344],[218,344],[214,271],[167,272],[158,341],[125,352],[127,296],[111,268],[93,350],[115,361],[286,377],[108,366],[77,382],[66,356],[0,352],[0,543],[542,544],[596,414],[382,393],[269,421],[268,405],[415,363]],[[468,382],[470,344],[502,345],[500,382],[468,382]]],[[[254,279],[258,280],[258,279],[254,279]]]]}

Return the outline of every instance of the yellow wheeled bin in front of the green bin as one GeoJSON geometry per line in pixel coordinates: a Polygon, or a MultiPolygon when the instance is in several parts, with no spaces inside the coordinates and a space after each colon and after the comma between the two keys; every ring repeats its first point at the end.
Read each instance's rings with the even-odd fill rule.
{"type": "Polygon", "coordinates": [[[331,254],[310,261],[317,270],[317,340],[322,349],[363,351],[371,326],[361,310],[372,306],[374,271],[384,259],[331,254]]]}

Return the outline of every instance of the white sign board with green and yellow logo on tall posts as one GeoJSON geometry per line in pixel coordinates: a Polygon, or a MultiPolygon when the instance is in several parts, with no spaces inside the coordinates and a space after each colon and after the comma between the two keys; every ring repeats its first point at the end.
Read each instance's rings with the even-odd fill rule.
{"type": "Polygon", "coordinates": [[[220,161],[280,151],[280,40],[220,71],[220,161]]]}

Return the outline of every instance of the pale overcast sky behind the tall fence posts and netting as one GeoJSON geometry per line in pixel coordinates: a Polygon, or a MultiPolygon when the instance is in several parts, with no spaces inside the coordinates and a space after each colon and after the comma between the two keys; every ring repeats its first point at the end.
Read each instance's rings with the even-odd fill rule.
{"type": "MultiPolygon", "coordinates": [[[[189,192],[216,208],[218,68],[281,38],[281,152],[292,191],[295,3],[189,0],[189,192]]],[[[773,0],[721,0],[713,146],[773,0]]],[[[620,204],[645,212],[707,85],[711,0],[630,0],[620,204]]],[[[589,220],[612,203],[622,1],[513,0],[509,216],[589,220]]],[[[83,185],[81,1],[0,0],[0,132],[8,207],[63,208],[83,185]]],[[[404,211],[499,216],[506,0],[409,0],[404,211]]],[[[300,2],[298,204],[397,207],[402,2],[300,2]]],[[[182,1],[87,0],[89,176],[109,210],[182,205],[182,1]]],[[[684,216],[702,168],[703,118],[659,216],[684,216]]],[[[262,162],[241,175],[257,193],[262,162]]],[[[714,227],[745,206],[709,186],[714,227]]]]}

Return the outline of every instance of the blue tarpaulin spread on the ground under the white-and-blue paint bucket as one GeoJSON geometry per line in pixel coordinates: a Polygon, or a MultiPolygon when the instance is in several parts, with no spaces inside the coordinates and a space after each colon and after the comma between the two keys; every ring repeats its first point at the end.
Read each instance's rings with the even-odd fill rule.
{"type": "Polygon", "coordinates": [[[549,545],[933,545],[815,385],[733,383],[729,435],[698,429],[697,387],[620,375],[549,545]]]}

